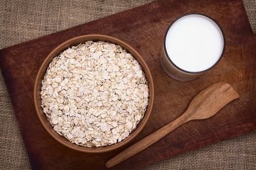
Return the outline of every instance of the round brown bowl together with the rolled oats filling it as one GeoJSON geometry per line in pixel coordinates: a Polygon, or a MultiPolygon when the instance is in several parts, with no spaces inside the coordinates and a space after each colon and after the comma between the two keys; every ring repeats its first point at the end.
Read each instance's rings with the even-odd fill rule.
{"type": "Polygon", "coordinates": [[[43,127],[61,144],[80,152],[108,152],[145,126],[153,108],[153,78],[141,55],[125,42],[81,35],[46,57],[34,102],[43,127]]]}

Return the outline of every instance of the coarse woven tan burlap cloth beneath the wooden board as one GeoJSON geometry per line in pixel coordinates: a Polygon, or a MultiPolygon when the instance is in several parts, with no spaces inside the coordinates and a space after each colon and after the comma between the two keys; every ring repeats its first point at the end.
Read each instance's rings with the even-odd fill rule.
{"type": "MultiPolygon", "coordinates": [[[[51,34],[153,0],[1,0],[0,49],[51,34]]],[[[256,33],[256,0],[243,0],[256,33]]],[[[0,170],[30,163],[0,73],[0,170]]],[[[178,155],[141,170],[256,170],[256,132],[178,155]]]]}

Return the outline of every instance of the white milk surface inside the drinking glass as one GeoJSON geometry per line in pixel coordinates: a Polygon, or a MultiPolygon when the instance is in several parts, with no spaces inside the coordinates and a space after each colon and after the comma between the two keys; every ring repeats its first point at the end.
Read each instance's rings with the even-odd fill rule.
{"type": "Polygon", "coordinates": [[[193,14],[173,23],[166,34],[165,46],[177,67],[198,72],[217,63],[224,48],[224,38],[213,20],[193,14]]]}

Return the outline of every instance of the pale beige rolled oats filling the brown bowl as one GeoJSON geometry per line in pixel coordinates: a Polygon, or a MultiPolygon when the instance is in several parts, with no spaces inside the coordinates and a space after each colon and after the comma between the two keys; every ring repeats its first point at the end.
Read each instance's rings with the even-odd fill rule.
{"type": "Polygon", "coordinates": [[[108,42],[68,48],[49,64],[41,106],[54,130],[87,147],[125,139],[143,118],[149,89],[130,53],[108,42]]]}

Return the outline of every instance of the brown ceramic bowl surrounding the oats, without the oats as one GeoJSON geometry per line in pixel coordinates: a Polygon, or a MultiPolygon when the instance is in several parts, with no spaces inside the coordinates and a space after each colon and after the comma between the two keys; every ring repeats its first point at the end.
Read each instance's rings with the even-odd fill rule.
{"type": "Polygon", "coordinates": [[[129,143],[133,138],[135,138],[139,132],[143,129],[143,127],[145,126],[145,124],[147,123],[152,108],[153,108],[153,102],[154,102],[154,84],[153,84],[153,78],[152,75],[150,73],[150,70],[146,64],[146,62],[144,61],[144,59],[141,57],[141,55],[131,46],[129,46],[128,44],[126,44],[125,42],[108,36],[108,35],[100,35],[100,34],[88,34],[88,35],[81,35],[75,38],[72,38],[70,40],[67,40],[65,42],[63,42],[62,44],[60,44],[57,48],[55,48],[53,51],[51,51],[51,53],[46,57],[46,59],[44,60],[44,62],[42,63],[38,74],[37,74],[37,78],[36,78],[36,82],[35,82],[35,86],[34,86],[34,102],[35,102],[35,107],[36,107],[36,111],[38,114],[38,117],[43,125],[43,127],[46,129],[46,131],[53,136],[53,138],[55,138],[57,141],[59,141],[61,144],[80,151],[80,152],[85,152],[85,153],[103,153],[103,152],[109,152],[112,150],[115,150],[117,148],[120,148],[121,146],[129,143]],[[110,43],[114,43],[116,45],[121,46],[123,49],[125,49],[127,52],[131,53],[134,58],[138,61],[138,63],[140,64],[141,68],[143,69],[144,73],[145,73],[145,77],[148,81],[148,85],[149,85],[149,103],[146,109],[146,112],[144,114],[143,119],[140,120],[140,122],[138,123],[136,129],[124,140],[122,140],[121,142],[118,142],[116,144],[112,144],[109,146],[103,146],[103,147],[92,147],[92,148],[88,148],[85,146],[79,146],[77,144],[71,143],[70,141],[68,141],[66,138],[64,138],[63,136],[60,136],[52,127],[52,125],[50,124],[50,122],[47,120],[45,114],[43,113],[43,110],[41,108],[41,97],[40,97],[40,88],[41,88],[41,80],[43,79],[43,76],[46,72],[46,69],[49,65],[49,63],[52,61],[52,59],[56,56],[58,56],[62,51],[66,50],[69,47],[72,46],[76,46],[79,45],[80,43],[84,43],[85,41],[88,40],[92,40],[92,41],[106,41],[106,42],[110,42],[110,43]]]}

